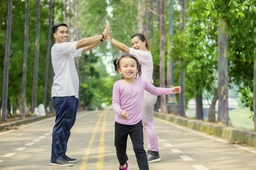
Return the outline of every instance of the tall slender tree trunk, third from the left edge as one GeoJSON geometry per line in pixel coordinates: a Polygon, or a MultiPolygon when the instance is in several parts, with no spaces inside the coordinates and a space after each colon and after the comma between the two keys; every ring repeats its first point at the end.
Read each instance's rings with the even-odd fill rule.
{"type": "Polygon", "coordinates": [[[34,110],[37,107],[39,37],[40,37],[40,0],[36,0],[35,60],[34,60],[32,107],[31,107],[32,113],[34,113],[34,110]]]}

